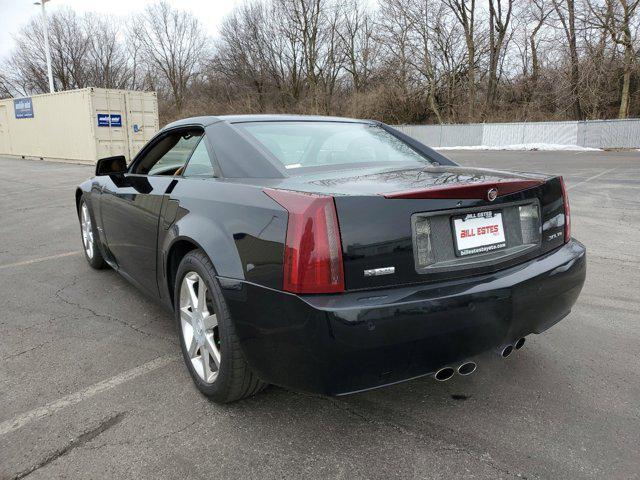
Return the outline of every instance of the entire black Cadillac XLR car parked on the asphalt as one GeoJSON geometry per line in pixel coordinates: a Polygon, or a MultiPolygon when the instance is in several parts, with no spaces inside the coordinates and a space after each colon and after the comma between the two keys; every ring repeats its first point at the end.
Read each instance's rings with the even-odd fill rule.
{"type": "Polygon", "coordinates": [[[373,121],[181,120],[76,201],[90,265],[175,313],[219,402],[470,374],[566,316],[586,273],[562,177],[459,167],[373,121]]]}

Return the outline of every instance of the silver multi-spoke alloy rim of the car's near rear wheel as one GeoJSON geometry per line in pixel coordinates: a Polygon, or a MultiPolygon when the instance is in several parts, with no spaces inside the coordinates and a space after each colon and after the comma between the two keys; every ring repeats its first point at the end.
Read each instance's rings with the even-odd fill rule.
{"type": "Polygon", "coordinates": [[[198,376],[213,383],[220,369],[218,318],[213,311],[205,281],[196,272],[187,273],[180,285],[180,325],[184,345],[198,376]]]}

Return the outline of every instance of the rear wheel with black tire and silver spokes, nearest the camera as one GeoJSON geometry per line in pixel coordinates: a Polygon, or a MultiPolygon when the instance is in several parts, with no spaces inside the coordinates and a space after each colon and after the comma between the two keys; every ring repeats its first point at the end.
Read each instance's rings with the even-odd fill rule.
{"type": "Polygon", "coordinates": [[[189,252],[180,262],[174,301],[184,361],[204,395],[227,403],[266,387],[244,359],[215,270],[203,251],[189,252]]]}

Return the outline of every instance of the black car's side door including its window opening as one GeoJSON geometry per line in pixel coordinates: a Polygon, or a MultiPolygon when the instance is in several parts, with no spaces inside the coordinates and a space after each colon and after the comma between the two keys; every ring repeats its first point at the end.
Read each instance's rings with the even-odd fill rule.
{"type": "Polygon", "coordinates": [[[156,252],[164,197],[182,173],[202,132],[180,129],[147,145],[129,172],[112,175],[100,195],[100,215],[108,253],[139,287],[158,294],[156,252]]]}

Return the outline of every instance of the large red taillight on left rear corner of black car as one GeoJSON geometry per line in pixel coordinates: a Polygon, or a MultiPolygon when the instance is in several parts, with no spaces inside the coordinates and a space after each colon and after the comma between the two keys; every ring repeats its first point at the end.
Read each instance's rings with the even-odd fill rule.
{"type": "Polygon", "coordinates": [[[270,188],[264,193],[289,212],[284,290],[344,292],[342,246],[333,197],[270,188]]]}

